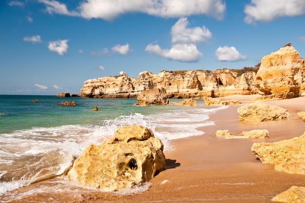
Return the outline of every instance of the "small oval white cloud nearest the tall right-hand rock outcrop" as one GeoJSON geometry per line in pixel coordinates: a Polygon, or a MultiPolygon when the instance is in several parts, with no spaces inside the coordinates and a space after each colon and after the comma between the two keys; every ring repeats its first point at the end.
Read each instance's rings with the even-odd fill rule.
{"type": "Polygon", "coordinates": [[[218,61],[242,61],[247,59],[247,56],[241,55],[234,46],[218,47],[215,55],[218,61]]]}

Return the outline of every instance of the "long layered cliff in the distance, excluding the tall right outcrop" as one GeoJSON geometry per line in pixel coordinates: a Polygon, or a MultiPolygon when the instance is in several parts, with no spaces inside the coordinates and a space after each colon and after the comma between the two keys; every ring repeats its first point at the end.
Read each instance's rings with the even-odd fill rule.
{"type": "Polygon", "coordinates": [[[87,80],[80,90],[86,98],[136,98],[143,90],[164,88],[169,98],[221,97],[233,94],[257,94],[252,84],[253,74],[236,79],[236,72],[228,69],[205,71],[144,71],[138,78],[126,75],[87,80]]]}

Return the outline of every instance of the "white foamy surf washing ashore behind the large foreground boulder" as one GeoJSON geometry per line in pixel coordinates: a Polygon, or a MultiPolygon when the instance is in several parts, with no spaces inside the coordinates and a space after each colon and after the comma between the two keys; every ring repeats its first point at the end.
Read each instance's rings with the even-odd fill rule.
{"type": "MultiPolygon", "coordinates": [[[[125,125],[143,125],[161,139],[164,150],[171,150],[170,141],[204,132],[198,127],[214,124],[209,114],[226,108],[203,106],[174,108],[165,113],[142,115],[132,113],[99,125],[62,125],[18,130],[0,136],[0,195],[46,177],[62,174],[90,144],[110,139],[114,131],[125,125]]],[[[141,191],[149,183],[133,188],[141,191]]],[[[131,193],[130,190],[127,193],[131,193]]]]}

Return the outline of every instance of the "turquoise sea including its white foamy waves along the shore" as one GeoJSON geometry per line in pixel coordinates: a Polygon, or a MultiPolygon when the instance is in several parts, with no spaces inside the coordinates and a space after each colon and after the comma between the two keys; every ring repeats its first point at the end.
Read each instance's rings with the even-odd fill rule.
{"type": "Polygon", "coordinates": [[[203,135],[198,128],[214,124],[209,115],[226,108],[203,100],[197,106],[133,103],[136,99],[0,95],[0,196],[64,174],[88,145],[112,138],[118,127],[150,128],[166,152],[174,149],[174,139],[203,135]],[[77,105],[60,105],[62,101],[77,105]]]}

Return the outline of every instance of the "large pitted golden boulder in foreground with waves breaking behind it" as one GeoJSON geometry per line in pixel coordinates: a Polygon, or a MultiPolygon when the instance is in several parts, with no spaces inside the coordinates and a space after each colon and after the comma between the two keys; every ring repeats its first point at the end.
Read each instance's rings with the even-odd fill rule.
{"type": "Polygon", "coordinates": [[[90,145],[68,176],[101,191],[117,191],[150,181],[165,169],[163,143],[141,125],[118,128],[114,137],[90,145]]]}

